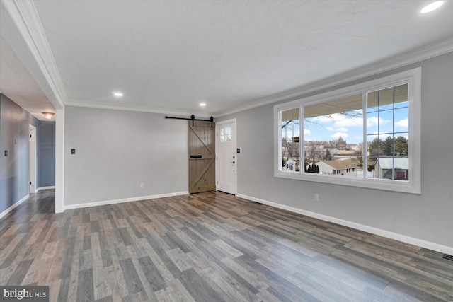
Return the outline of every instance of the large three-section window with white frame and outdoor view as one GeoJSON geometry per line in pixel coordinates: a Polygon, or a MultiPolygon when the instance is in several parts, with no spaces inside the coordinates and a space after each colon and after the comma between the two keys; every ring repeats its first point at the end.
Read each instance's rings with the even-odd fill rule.
{"type": "Polygon", "coordinates": [[[275,105],[275,177],[420,194],[420,77],[275,105]]]}

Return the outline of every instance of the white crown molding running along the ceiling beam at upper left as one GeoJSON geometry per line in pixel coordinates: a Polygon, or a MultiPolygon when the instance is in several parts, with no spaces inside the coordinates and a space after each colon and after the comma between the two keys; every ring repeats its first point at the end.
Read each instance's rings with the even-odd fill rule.
{"type": "Polygon", "coordinates": [[[66,92],[55,63],[44,28],[33,1],[1,0],[18,28],[36,64],[55,95],[55,107],[64,108],[66,92]],[[58,105],[58,106],[57,106],[58,105]]]}

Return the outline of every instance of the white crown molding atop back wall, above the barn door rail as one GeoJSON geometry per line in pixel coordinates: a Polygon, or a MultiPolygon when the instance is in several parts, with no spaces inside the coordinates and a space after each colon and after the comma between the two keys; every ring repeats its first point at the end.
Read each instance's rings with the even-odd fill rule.
{"type": "Polygon", "coordinates": [[[85,100],[74,100],[74,99],[67,100],[67,102],[65,104],[67,106],[74,106],[74,107],[159,113],[161,115],[181,115],[181,116],[195,115],[195,117],[197,117],[197,118],[198,117],[209,118],[212,116],[212,113],[210,113],[210,112],[174,110],[174,109],[169,109],[169,108],[151,108],[151,107],[147,107],[147,106],[133,105],[133,104],[110,104],[110,103],[101,103],[101,102],[88,102],[85,100]]]}

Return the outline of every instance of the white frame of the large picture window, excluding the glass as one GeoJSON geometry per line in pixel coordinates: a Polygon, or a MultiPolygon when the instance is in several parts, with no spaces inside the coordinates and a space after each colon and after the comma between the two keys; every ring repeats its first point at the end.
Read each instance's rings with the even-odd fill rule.
{"type": "MultiPolygon", "coordinates": [[[[321,93],[319,95],[313,95],[308,98],[301,98],[299,100],[293,100],[288,103],[281,103],[274,106],[274,177],[275,178],[288,178],[292,180],[306,180],[312,182],[323,182],[334,185],[347,185],[353,187],[365,187],[377,190],[389,190],[396,192],[406,192],[412,194],[421,194],[421,160],[420,160],[420,106],[421,106],[421,67],[403,71],[398,74],[392,74],[390,76],[384,76],[379,79],[359,83],[356,85],[340,88],[335,91],[329,91],[327,93],[321,93]],[[363,93],[364,105],[365,105],[365,93],[377,90],[384,86],[393,86],[398,83],[407,82],[408,87],[408,133],[410,139],[408,140],[408,160],[409,160],[409,171],[411,177],[409,180],[384,180],[375,178],[343,178],[337,175],[319,175],[312,173],[304,173],[302,168],[303,151],[304,151],[304,106],[311,105],[314,103],[322,103],[327,100],[333,100],[334,98],[341,98],[346,95],[354,95],[357,93],[363,93]],[[300,154],[301,154],[301,169],[299,173],[287,172],[280,170],[278,158],[280,158],[281,148],[279,141],[281,141],[280,131],[280,112],[289,110],[291,108],[299,107],[299,120],[300,122],[300,154]]],[[[364,110],[364,133],[366,132],[366,107],[364,110]]],[[[366,140],[366,135],[364,135],[366,140]]],[[[365,144],[366,146],[366,144],[365,144]]],[[[363,150],[363,158],[367,157],[367,149],[363,150]]],[[[366,173],[364,173],[366,174],[366,173]]]]}

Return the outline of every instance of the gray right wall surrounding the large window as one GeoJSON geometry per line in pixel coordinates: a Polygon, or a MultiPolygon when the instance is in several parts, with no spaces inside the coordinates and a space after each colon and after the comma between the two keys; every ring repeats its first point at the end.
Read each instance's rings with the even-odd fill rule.
{"type": "Polygon", "coordinates": [[[275,104],[217,119],[237,118],[238,193],[453,247],[453,52],[362,81],[418,66],[422,66],[421,195],[274,178],[275,104]],[[314,194],[319,194],[319,202],[314,194]]]}

